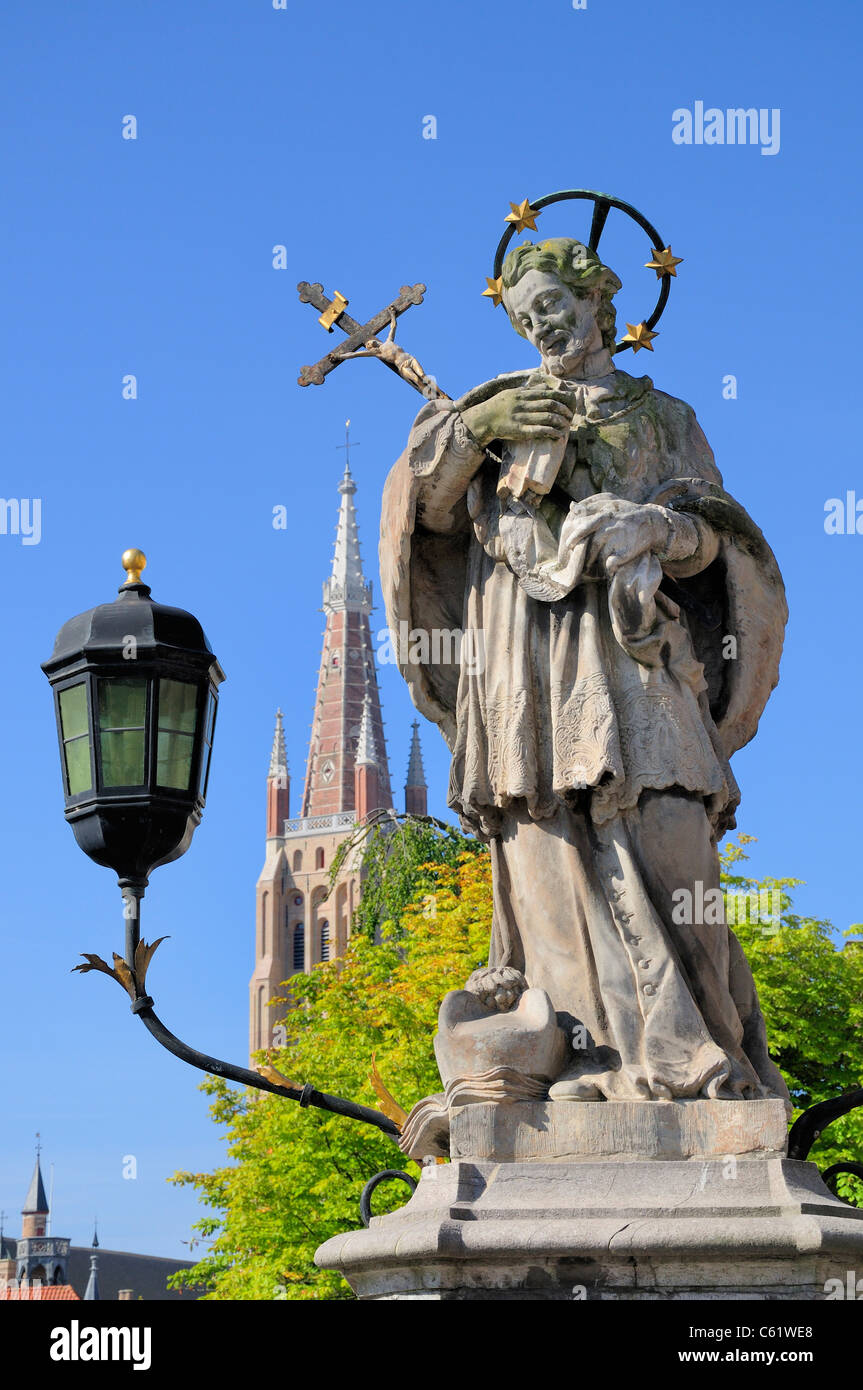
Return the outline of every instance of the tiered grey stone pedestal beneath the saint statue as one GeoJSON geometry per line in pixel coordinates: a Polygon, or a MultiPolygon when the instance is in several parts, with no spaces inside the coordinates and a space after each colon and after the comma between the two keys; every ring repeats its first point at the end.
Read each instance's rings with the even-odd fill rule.
{"type": "Polygon", "coordinates": [[[778,1101],[464,1106],[453,1161],[315,1261],[360,1298],[824,1298],[863,1211],[785,1131],[778,1101]]]}

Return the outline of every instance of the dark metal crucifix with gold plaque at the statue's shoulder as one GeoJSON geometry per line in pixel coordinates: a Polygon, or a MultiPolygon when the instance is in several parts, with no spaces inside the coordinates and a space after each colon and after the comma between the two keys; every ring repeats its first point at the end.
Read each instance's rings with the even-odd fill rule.
{"type": "Polygon", "coordinates": [[[297,377],[300,386],[321,386],[324,378],[331,371],[335,371],[340,363],[347,361],[349,357],[377,357],[385,367],[389,367],[391,371],[395,371],[397,377],[402,377],[403,381],[413,386],[414,391],[425,396],[427,400],[450,399],[445,391],[441,391],[435,378],[422,370],[413,353],[396,343],[399,316],[410,309],[411,304],[422,303],[425,285],[402,285],[399,297],[393,299],[386,309],[374,314],[367,324],[359,324],[356,318],[352,318],[346,313],[349,300],[338,289],[334,297],[328,299],[320,282],[310,285],[309,281],[302,279],[297,285],[297,293],[304,304],[314,304],[315,309],[321,310],[318,317],[321,328],[325,328],[328,334],[334,328],[340,328],[342,332],[347,334],[345,343],[328,352],[313,367],[302,368],[297,377]],[[389,332],[381,341],[378,334],[388,325],[389,332]]]}

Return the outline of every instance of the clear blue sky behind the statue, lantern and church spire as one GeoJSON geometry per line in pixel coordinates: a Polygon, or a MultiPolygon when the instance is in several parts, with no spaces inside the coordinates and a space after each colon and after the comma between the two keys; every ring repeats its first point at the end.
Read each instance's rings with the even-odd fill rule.
{"type": "MultiPolygon", "coordinates": [[[[7,0],[0,491],[42,499],[38,545],[0,535],[8,1232],[36,1130],[56,1165],[56,1233],[85,1241],[99,1212],[104,1245],[163,1255],[186,1252],[197,1213],[165,1177],[224,1154],[196,1074],[115,986],[69,974],[79,951],[118,948],[122,922],[113,876],[64,823],[39,663],[67,617],[113,598],[128,545],[147,552],[156,598],[202,619],[228,673],[210,801],[186,858],[154,874],[143,929],[171,937],[151,969],[168,1026],[245,1061],[272,716],[281,703],[296,808],[336,446],[350,416],[377,589],[381,488],[420,404],[371,361],[300,389],[328,339],[295,286],[322,281],[365,320],[424,281],[399,338],[459,395],[532,360],[479,295],[510,200],[603,189],[685,257],[656,352],[623,366],[695,407],[785,575],[781,684],[735,760],[739,826],[759,837],[756,873],[806,880],[803,910],[837,929],[863,917],[863,537],[824,531],[828,498],[863,498],[841,356],[862,321],[860,29],[852,0],[7,0]],[[673,113],[696,101],[778,108],[778,153],[675,145],[673,113]],[[136,400],[122,399],[126,374],[136,400]]],[[[542,222],[586,229],[573,204],[542,222]]],[[[613,214],[603,254],[624,281],[620,325],[652,307],[648,250],[613,214]]],[[[381,684],[400,788],[411,705],[392,667],[381,684]]],[[[446,752],[428,726],[422,742],[443,813],[446,752]]]]}

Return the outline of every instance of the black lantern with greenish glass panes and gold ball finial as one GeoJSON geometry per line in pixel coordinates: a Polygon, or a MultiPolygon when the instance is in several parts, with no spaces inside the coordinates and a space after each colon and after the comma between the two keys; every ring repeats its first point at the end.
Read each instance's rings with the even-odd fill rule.
{"type": "Polygon", "coordinates": [[[118,598],[69,619],[42,667],[54,688],[65,819],[132,894],[185,853],[200,824],[225,678],[197,619],[153,602],[146,563],[126,550],[118,598]]]}

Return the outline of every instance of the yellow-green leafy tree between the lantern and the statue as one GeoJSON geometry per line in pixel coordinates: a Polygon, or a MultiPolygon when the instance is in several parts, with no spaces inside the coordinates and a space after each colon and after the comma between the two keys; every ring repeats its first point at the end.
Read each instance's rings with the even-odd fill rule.
{"type": "MultiPolygon", "coordinates": [[[[379,827],[367,858],[381,874],[377,940],[367,916],[368,931],[356,930],[339,960],[290,977],[286,1045],[271,1062],[318,1090],[379,1106],[370,1080],[375,1056],[407,1111],[441,1087],[431,1038],[442,995],[485,962],[489,858],[477,841],[425,820],[395,834],[379,827]],[[392,873],[381,872],[381,847],[392,873]]],[[[359,1226],[360,1193],[374,1173],[403,1168],[418,1176],[418,1168],[374,1126],[236,1091],[215,1077],[202,1090],[227,1129],[232,1165],[174,1176],[210,1208],[196,1230],[213,1245],[172,1283],[210,1286],[211,1298],[353,1297],[339,1275],[314,1268],[317,1245],[359,1226]]],[[[381,1188],[375,1211],[403,1200],[400,1184],[381,1188]]]]}

